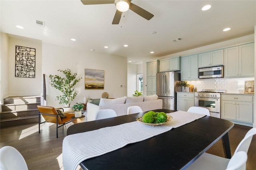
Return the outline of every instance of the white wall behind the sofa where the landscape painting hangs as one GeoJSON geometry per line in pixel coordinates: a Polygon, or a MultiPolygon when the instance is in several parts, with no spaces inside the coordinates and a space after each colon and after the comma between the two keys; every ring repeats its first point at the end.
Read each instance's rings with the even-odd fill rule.
{"type": "MultiPolygon", "coordinates": [[[[110,98],[118,98],[127,95],[127,59],[113,55],[97,53],[96,51],[83,51],[70,47],[63,47],[49,43],[42,44],[42,74],[46,75],[46,100],[48,106],[59,107],[56,96],[61,93],[50,86],[49,75],[64,74],[58,69],[69,68],[72,73],[77,73],[82,80],[75,86],[78,96],[73,100],[83,102],[84,95],[87,98],[101,98],[103,92],[108,92],[110,98]],[[84,89],[84,69],[104,70],[104,90],[84,89]],[[120,87],[122,85],[123,87],[120,87]]],[[[64,107],[64,105],[61,105],[64,107]]]]}

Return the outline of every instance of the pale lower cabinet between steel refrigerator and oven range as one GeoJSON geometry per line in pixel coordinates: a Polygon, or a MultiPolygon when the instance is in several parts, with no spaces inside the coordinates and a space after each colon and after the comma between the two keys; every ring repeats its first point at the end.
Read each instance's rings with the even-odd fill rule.
{"type": "Polygon", "coordinates": [[[177,92],[177,110],[188,111],[194,104],[194,93],[177,92]]]}

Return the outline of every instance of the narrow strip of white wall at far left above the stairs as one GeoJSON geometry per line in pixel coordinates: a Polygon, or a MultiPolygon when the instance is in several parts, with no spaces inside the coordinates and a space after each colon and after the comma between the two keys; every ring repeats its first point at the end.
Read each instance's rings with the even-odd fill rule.
{"type": "MultiPolygon", "coordinates": [[[[0,104],[2,99],[9,95],[8,88],[8,59],[9,59],[9,37],[6,33],[0,35],[0,104]]],[[[1,108],[1,107],[0,107],[1,108]]]]}

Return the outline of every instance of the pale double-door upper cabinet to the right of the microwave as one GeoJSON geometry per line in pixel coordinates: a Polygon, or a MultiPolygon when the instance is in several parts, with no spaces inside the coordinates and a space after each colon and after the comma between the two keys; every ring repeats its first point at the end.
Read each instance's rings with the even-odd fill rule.
{"type": "Polygon", "coordinates": [[[224,49],[224,77],[254,76],[254,43],[224,49]]]}

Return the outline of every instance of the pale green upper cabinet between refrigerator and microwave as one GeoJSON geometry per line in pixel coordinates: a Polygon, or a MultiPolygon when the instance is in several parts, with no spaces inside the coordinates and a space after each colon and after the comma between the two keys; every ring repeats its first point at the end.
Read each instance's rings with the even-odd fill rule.
{"type": "Polygon", "coordinates": [[[181,58],[180,79],[196,80],[198,79],[198,55],[190,55],[181,58]]]}

